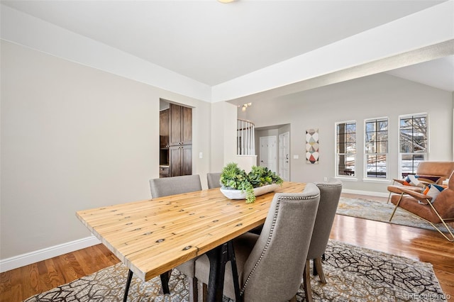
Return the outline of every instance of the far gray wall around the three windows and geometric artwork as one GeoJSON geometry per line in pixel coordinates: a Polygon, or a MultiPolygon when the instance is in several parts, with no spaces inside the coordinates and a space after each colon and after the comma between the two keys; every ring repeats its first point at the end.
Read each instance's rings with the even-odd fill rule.
{"type": "Polygon", "coordinates": [[[257,128],[291,124],[292,181],[320,181],[334,176],[335,123],[357,121],[357,179],[343,179],[344,188],[384,193],[389,181],[362,179],[364,120],[389,117],[389,173],[390,177],[398,177],[398,117],[423,112],[429,115],[429,160],[453,160],[453,94],[388,74],[256,101],[243,118],[253,121],[257,128]],[[304,136],[308,128],[319,128],[319,164],[306,164],[304,136]],[[299,159],[295,160],[294,155],[299,159]]]}

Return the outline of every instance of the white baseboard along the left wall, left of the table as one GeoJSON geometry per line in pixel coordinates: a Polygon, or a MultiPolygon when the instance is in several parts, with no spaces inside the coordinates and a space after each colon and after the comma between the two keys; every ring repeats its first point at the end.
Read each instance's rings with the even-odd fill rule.
{"type": "Polygon", "coordinates": [[[6,272],[11,269],[17,269],[24,265],[32,264],[35,262],[43,261],[52,257],[66,254],[67,252],[74,252],[76,250],[84,249],[101,243],[96,237],[90,236],[71,242],[62,243],[61,245],[54,245],[53,247],[46,247],[42,250],[28,252],[26,254],[14,256],[7,259],[0,259],[0,272],[6,272]]]}

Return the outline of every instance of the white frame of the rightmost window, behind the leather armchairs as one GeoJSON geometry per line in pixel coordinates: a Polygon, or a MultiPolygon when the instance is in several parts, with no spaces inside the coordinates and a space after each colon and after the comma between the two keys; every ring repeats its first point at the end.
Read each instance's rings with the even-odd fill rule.
{"type": "MultiPolygon", "coordinates": [[[[408,173],[416,173],[416,169],[419,165],[418,164],[414,164],[415,160],[414,160],[414,156],[415,155],[423,155],[423,159],[422,160],[419,160],[418,162],[426,162],[428,161],[428,157],[429,157],[429,146],[430,146],[430,138],[429,138],[429,116],[428,116],[428,113],[426,112],[423,112],[423,113],[412,113],[412,114],[403,114],[403,115],[400,115],[399,117],[399,120],[398,120],[398,128],[397,128],[397,131],[398,131],[398,145],[397,147],[399,148],[399,154],[398,154],[398,157],[399,157],[399,176],[404,176],[404,173],[408,174],[408,173]],[[425,117],[426,118],[426,150],[425,152],[402,152],[402,145],[401,145],[401,142],[403,141],[401,139],[401,121],[402,119],[405,119],[405,118],[411,118],[411,119],[414,119],[414,118],[421,118],[421,117],[425,117]],[[411,161],[413,162],[411,164],[411,171],[404,171],[403,169],[403,162],[404,160],[402,160],[402,156],[403,155],[409,155],[409,156],[412,156],[412,159],[411,161]]],[[[414,132],[412,132],[414,133],[414,132]]]]}

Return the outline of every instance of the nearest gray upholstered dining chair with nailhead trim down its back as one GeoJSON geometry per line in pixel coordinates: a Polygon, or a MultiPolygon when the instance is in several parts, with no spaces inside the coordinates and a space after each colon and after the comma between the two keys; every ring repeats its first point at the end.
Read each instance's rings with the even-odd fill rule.
{"type": "MultiPolygon", "coordinates": [[[[245,233],[233,240],[243,301],[296,301],[319,198],[315,184],[307,184],[302,193],[277,193],[262,233],[245,233]]],[[[204,289],[209,270],[208,257],[199,257],[196,278],[204,289]]],[[[224,296],[235,299],[230,264],[226,264],[224,278],[224,296]]]]}

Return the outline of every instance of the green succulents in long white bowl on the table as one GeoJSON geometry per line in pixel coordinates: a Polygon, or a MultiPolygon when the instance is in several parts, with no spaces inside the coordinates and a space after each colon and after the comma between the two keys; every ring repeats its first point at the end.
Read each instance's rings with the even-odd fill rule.
{"type": "Polygon", "coordinates": [[[275,172],[267,167],[253,166],[249,173],[231,162],[221,171],[221,192],[231,199],[245,199],[246,203],[253,203],[255,196],[274,191],[282,184],[275,172]]]}

